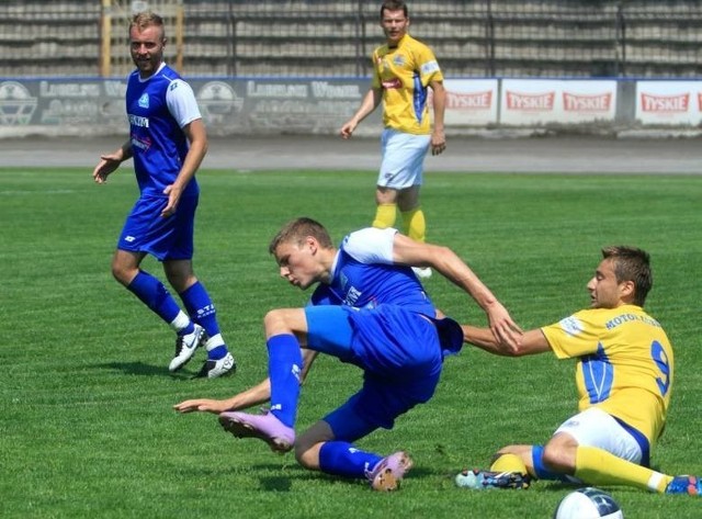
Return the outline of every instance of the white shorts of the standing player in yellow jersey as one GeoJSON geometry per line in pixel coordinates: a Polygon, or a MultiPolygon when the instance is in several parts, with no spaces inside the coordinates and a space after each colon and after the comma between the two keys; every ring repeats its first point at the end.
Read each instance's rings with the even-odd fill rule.
{"type": "Polygon", "coordinates": [[[397,190],[421,185],[424,157],[430,144],[429,135],[412,135],[385,128],[381,137],[383,160],[377,185],[397,190]]]}

